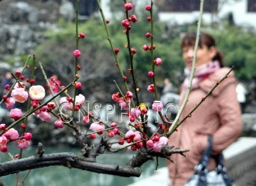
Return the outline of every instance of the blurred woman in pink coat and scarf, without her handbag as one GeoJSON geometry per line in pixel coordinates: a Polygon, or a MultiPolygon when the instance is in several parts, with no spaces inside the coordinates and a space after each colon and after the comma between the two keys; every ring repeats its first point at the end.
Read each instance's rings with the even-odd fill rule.
{"type": "MultiPolygon", "coordinates": [[[[186,63],[186,79],[181,86],[180,103],[182,104],[191,74],[196,33],[187,33],[182,39],[182,57],[186,63]]],[[[196,70],[191,84],[188,103],[182,112],[184,118],[189,111],[220,81],[230,70],[224,67],[223,56],[216,49],[214,38],[206,33],[200,34],[196,54],[196,70]]],[[[170,136],[170,144],[189,148],[187,157],[172,155],[175,164],[168,162],[169,176],[172,185],[184,185],[194,173],[202,152],[205,150],[208,137],[213,136],[212,155],[221,153],[227,146],[236,141],[241,134],[241,109],[237,102],[236,79],[234,72],[221,82],[191,117],[188,118],[170,136]]],[[[207,169],[216,168],[214,159],[209,161],[207,169]]]]}

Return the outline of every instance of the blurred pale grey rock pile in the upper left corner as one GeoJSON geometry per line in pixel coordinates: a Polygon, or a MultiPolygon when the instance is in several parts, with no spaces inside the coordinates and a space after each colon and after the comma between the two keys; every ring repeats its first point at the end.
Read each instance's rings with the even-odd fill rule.
{"type": "Polygon", "coordinates": [[[31,54],[44,42],[47,29],[55,29],[58,3],[3,1],[0,5],[0,61],[31,54]]]}

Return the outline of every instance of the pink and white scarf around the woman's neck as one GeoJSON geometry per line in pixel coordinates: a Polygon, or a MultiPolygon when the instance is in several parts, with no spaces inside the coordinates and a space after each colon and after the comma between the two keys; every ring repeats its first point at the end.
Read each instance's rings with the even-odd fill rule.
{"type": "MultiPolygon", "coordinates": [[[[219,61],[213,61],[213,62],[211,61],[209,63],[205,63],[203,65],[198,66],[194,73],[193,81],[191,84],[191,90],[198,88],[199,83],[201,81],[206,79],[210,74],[212,74],[218,69],[220,69],[219,61]]],[[[189,70],[188,68],[185,68],[184,73],[186,75],[186,79],[182,84],[182,88],[187,89],[189,86],[189,78],[190,78],[191,70],[189,70]]]]}

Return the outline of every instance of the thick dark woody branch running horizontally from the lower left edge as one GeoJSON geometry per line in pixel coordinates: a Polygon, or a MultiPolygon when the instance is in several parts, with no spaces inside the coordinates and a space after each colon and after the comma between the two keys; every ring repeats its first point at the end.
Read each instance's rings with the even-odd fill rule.
{"type": "Polygon", "coordinates": [[[42,155],[42,157],[31,156],[24,159],[12,160],[0,164],[0,176],[19,173],[30,169],[49,166],[65,166],[68,168],[82,169],[95,173],[112,174],[117,176],[140,176],[141,171],[131,167],[114,166],[92,162],[75,153],[52,153],[42,155]]]}

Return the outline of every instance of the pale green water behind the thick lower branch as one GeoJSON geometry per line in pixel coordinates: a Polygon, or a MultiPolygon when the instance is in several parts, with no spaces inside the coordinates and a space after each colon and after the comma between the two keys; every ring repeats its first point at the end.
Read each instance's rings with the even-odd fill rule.
{"type": "MultiPolygon", "coordinates": [[[[36,148],[29,148],[28,150],[24,150],[24,157],[31,156],[35,153],[36,148]]],[[[9,151],[12,152],[12,150],[9,151]]],[[[74,151],[79,154],[79,150],[74,150],[71,148],[45,148],[45,153],[56,153],[61,151],[74,151]]],[[[16,151],[15,153],[18,153],[16,151]]],[[[15,154],[14,153],[14,154],[15,154]]],[[[98,162],[105,162],[108,164],[118,164],[125,165],[129,158],[132,157],[132,153],[113,153],[100,155],[97,157],[98,162]]],[[[7,153],[0,153],[0,160],[4,162],[5,160],[10,159],[7,153]]],[[[159,167],[165,166],[165,160],[159,159],[159,167]]],[[[142,167],[142,174],[140,178],[131,177],[125,178],[120,176],[112,176],[108,174],[99,174],[92,173],[89,171],[83,171],[79,169],[68,169],[63,166],[51,166],[44,167],[40,169],[33,169],[31,173],[29,173],[28,178],[25,180],[25,185],[36,185],[36,186],[59,186],[59,185],[72,185],[72,186],[80,186],[80,185],[92,185],[92,186],[108,186],[108,185],[128,185],[130,183],[134,183],[143,178],[147,178],[148,176],[154,173],[156,169],[156,160],[148,161],[142,167]]],[[[20,180],[23,180],[24,176],[28,173],[28,171],[24,171],[20,173],[20,180]]],[[[2,181],[4,185],[16,185],[16,174],[11,174],[8,176],[3,176],[2,181]]]]}

